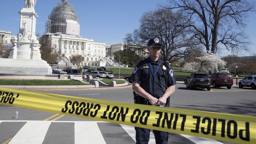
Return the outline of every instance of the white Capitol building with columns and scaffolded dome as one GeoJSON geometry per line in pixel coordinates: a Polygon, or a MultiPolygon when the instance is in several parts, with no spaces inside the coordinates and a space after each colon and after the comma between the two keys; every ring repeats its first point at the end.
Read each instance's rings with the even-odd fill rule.
{"type": "MultiPolygon", "coordinates": [[[[11,36],[10,31],[0,31],[0,38],[3,43],[11,43],[16,36],[11,36]]],[[[69,66],[72,55],[81,55],[83,61],[80,65],[90,66],[119,66],[114,60],[113,53],[126,48],[124,43],[107,45],[105,43],[94,42],[80,36],[79,18],[75,8],[68,0],[57,2],[45,23],[45,34],[43,37],[50,42],[63,57],[59,61],[59,66],[69,66]]],[[[134,49],[134,48],[132,48],[134,49]]],[[[124,67],[124,65],[120,65],[124,67]]]]}

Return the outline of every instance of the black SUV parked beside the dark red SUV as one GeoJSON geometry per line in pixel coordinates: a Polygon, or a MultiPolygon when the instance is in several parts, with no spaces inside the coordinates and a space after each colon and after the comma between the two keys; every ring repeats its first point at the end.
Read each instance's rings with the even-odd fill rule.
{"type": "Polygon", "coordinates": [[[192,73],[187,78],[186,87],[193,88],[207,88],[208,91],[211,90],[211,79],[206,73],[192,73]]]}

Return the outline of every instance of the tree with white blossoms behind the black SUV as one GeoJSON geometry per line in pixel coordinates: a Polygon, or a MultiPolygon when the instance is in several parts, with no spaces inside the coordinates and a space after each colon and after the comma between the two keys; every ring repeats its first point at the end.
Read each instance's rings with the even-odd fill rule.
{"type": "Polygon", "coordinates": [[[216,53],[208,51],[201,57],[196,57],[200,63],[191,62],[186,63],[183,66],[183,69],[186,70],[197,70],[198,72],[216,72],[219,68],[224,68],[227,64],[226,61],[221,60],[219,56],[216,56],[216,53]]]}

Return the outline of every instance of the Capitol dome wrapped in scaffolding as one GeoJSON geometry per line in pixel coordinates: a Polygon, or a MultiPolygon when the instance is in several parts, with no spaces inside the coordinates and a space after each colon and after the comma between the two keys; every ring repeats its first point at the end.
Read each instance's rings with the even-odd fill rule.
{"type": "Polygon", "coordinates": [[[46,22],[46,33],[80,35],[79,18],[68,0],[57,2],[46,22]]]}

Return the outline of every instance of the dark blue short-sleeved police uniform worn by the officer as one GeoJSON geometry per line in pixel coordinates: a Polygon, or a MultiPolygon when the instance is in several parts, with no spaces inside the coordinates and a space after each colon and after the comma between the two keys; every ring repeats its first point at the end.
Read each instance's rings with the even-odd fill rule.
{"type": "MultiPolygon", "coordinates": [[[[150,58],[147,58],[138,63],[129,79],[129,82],[138,83],[147,93],[159,99],[165,93],[166,85],[167,87],[175,85],[176,79],[170,65],[165,67],[164,61],[160,60],[160,58],[156,62],[152,62],[150,58]]],[[[141,104],[151,105],[145,100],[145,98],[141,96],[139,97],[142,99],[141,104]]],[[[170,102],[166,102],[165,107],[169,106],[170,102]]],[[[136,142],[140,144],[148,143],[150,129],[135,127],[135,130],[136,142]]],[[[167,143],[168,132],[157,130],[153,130],[153,132],[157,144],[167,143]]]]}

